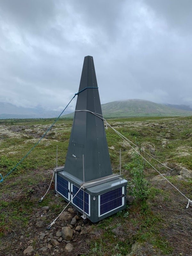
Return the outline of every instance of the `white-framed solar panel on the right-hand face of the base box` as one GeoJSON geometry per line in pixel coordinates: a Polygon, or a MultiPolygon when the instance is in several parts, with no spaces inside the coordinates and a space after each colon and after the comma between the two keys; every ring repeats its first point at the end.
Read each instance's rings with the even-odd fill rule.
{"type": "Polygon", "coordinates": [[[124,205],[124,187],[99,195],[99,217],[124,205]]]}

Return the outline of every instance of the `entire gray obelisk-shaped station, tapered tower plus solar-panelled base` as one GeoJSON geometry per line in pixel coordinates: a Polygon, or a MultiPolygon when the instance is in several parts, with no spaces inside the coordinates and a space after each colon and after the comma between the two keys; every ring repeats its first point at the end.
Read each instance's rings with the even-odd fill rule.
{"type": "Polygon", "coordinates": [[[55,192],[97,222],[126,207],[127,180],[113,174],[92,56],[84,58],[65,166],[55,173],[55,192]]]}

